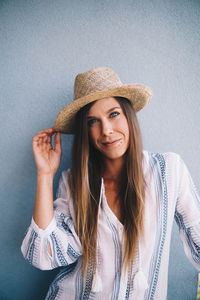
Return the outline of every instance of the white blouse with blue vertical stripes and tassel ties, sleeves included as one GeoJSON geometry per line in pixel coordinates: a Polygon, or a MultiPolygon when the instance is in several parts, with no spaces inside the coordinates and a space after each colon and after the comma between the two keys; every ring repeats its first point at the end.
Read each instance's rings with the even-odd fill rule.
{"type": "Polygon", "coordinates": [[[144,238],[138,243],[132,268],[121,270],[123,225],[109,208],[102,179],[98,213],[97,267],[86,280],[81,269],[81,243],[74,228],[73,200],[64,171],[54,201],[54,217],[45,230],[32,219],[22,253],[35,267],[60,267],[46,300],[157,299],[167,297],[170,239],[175,218],[185,253],[200,271],[200,198],[188,169],[176,153],[144,151],[147,182],[144,238]],[[48,253],[48,245],[52,256],[48,253]]]}

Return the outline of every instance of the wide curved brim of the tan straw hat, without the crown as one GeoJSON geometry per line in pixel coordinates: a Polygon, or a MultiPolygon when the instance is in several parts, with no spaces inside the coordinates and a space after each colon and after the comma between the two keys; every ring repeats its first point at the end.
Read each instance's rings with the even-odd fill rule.
{"type": "Polygon", "coordinates": [[[55,131],[66,134],[74,134],[73,125],[76,113],[88,103],[106,97],[127,98],[130,100],[134,110],[138,112],[148,104],[152,97],[152,91],[143,84],[124,84],[116,88],[96,92],[74,100],[66,105],[58,114],[53,126],[55,131]]]}

